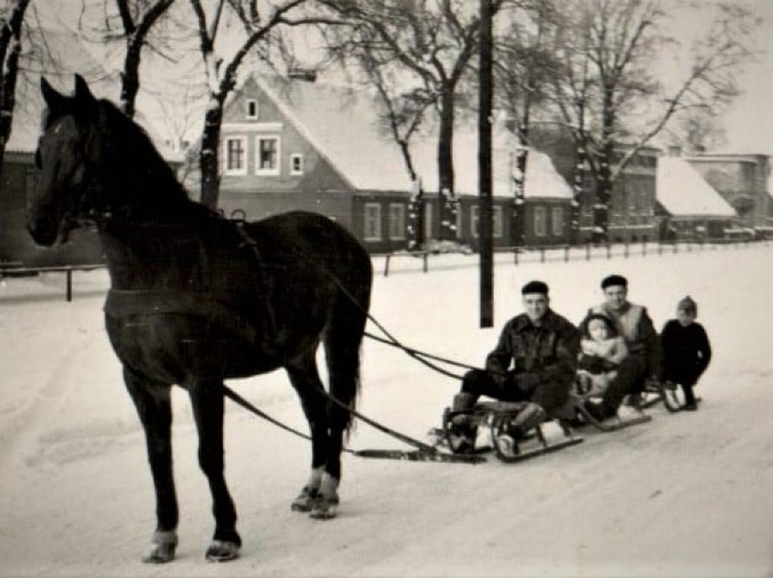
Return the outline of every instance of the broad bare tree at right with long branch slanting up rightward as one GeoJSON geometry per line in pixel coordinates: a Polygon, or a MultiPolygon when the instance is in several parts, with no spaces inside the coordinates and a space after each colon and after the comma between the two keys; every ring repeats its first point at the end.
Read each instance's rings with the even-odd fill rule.
{"type": "Polygon", "coordinates": [[[734,98],[736,79],[751,55],[745,38],[758,22],[735,3],[719,4],[709,31],[690,50],[686,72],[669,88],[655,59],[664,46],[679,43],[666,33],[662,2],[583,0],[572,7],[565,12],[574,29],[565,36],[572,39],[565,45],[572,59],[556,94],[593,171],[594,238],[605,241],[612,187],[621,171],[672,118],[695,107],[713,110],[734,98]],[[629,146],[616,159],[621,142],[629,146]]]}

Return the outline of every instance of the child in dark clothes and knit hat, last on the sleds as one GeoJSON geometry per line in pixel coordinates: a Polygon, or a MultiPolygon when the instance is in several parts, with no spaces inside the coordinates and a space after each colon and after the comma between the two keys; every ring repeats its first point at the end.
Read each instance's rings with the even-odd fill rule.
{"type": "Polygon", "coordinates": [[[677,304],[677,318],[667,321],[660,332],[662,378],[681,386],[684,392],[682,409],[690,411],[698,409],[692,388],[711,361],[709,336],[695,321],[696,317],[698,304],[690,296],[685,297],[677,304]]]}

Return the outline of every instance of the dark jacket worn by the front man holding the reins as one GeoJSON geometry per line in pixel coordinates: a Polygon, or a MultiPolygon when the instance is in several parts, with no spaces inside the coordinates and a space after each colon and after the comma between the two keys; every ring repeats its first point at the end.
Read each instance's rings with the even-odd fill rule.
{"type": "Polygon", "coordinates": [[[523,313],[504,325],[485,367],[494,376],[503,376],[512,365],[511,373],[519,381],[568,387],[579,351],[580,332],[567,319],[548,309],[536,327],[523,313]]]}

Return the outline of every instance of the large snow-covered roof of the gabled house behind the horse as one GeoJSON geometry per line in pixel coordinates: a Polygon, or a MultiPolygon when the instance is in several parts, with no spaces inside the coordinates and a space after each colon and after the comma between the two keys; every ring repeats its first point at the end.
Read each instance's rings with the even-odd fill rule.
{"type": "MultiPolygon", "coordinates": [[[[396,142],[379,126],[378,103],[367,92],[349,87],[295,81],[259,87],[308,142],[352,187],[364,191],[409,191],[406,163],[396,142]]],[[[513,194],[514,135],[504,126],[493,131],[493,193],[513,194]]],[[[438,191],[436,131],[416,134],[411,161],[426,191],[438,191]]],[[[478,191],[478,136],[471,124],[454,132],[455,192],[478,191]]],[[[532,151],[526,167],[527,198],[571,199],[572,189],[543,152],[532,151]]]]}

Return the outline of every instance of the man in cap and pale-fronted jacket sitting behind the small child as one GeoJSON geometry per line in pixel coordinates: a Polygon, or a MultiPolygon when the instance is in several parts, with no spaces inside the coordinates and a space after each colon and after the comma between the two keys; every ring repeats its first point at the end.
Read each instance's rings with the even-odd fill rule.
{"type": "Polygon", "coordinates": [[[597,419],[614,416],[623,398],[631,395],[635,402],[641,395],[647,378],[658,380],[660,374],[660,339],[652,325],[647,308],[628,300],[628,279],[610,275],[602,279],[604,302],[588,310],[580,328],[585,328],[593,315],[603,315],[612,321],[628,347],[629,355],[621,361],[617,376],[612,379],[601,403],[586,401],[585,407],[597,419]]]}

